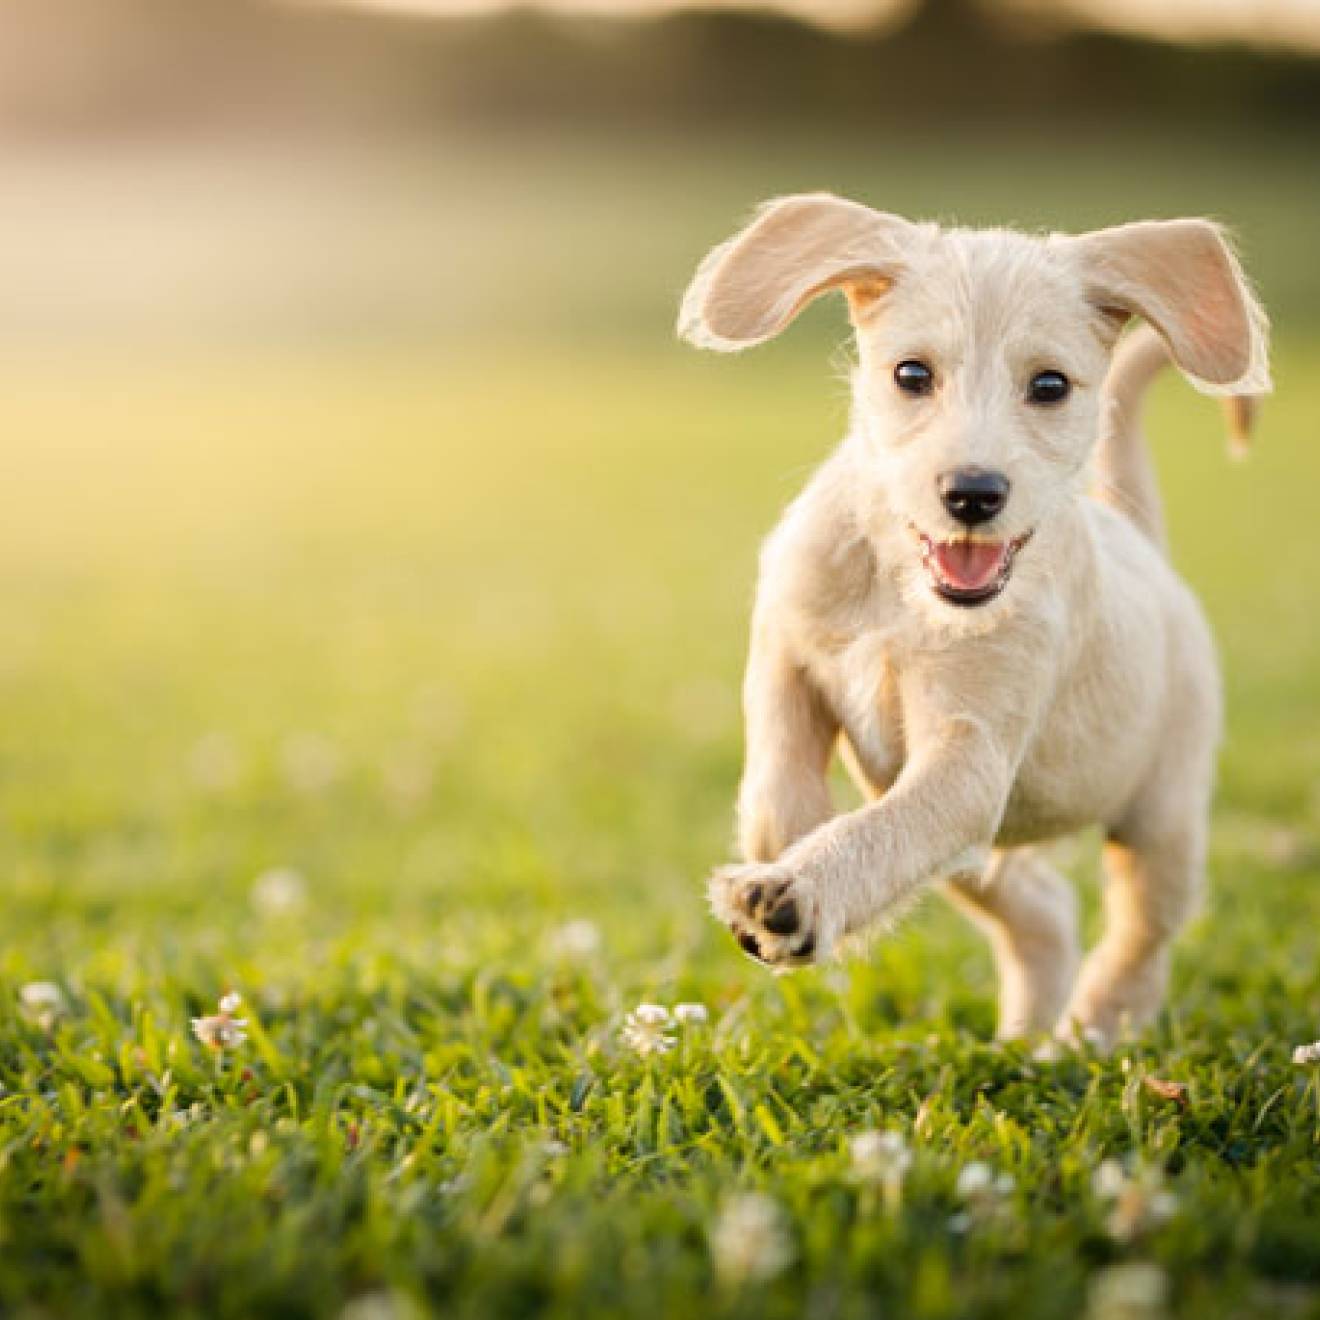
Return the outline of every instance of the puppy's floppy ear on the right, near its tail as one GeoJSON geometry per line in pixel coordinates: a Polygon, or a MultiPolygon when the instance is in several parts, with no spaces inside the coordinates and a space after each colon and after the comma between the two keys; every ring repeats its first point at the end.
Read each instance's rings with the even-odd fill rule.
{"type": "Polygon", "coordinates": [[[1144,317],[1197,389],[1269,392],[1270,323],[1220,226],[1142,220],[1071,242],[1096,306],[1144,317]]]}

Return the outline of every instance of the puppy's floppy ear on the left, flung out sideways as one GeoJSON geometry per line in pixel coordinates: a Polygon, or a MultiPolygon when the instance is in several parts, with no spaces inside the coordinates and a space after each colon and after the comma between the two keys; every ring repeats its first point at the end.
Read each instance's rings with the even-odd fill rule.
{"type": "Polygon", "coordinates": [[[767,202],[701,263],[682,298],[678,334],[698,348],[750,348],[838,288],[857,319],[892,282],[912,232],[896,215],[829,193],[767,202]]]}

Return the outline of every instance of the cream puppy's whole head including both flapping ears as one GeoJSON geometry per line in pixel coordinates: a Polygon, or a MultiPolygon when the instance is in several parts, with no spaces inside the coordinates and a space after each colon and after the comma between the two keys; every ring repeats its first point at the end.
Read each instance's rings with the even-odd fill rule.
{"type": "Polygon", "coordinates": [[[1221,230],[1152,220],[1078,236],[913,224],[787,197],[701,264],[678,330],[735,351],[840,289],[857,331],[867,532],[924,598],[983,606],[1084,488],[1110,351],[1133,315],[1208,392],[1269,388],[1265,317],[1221,230]]]}

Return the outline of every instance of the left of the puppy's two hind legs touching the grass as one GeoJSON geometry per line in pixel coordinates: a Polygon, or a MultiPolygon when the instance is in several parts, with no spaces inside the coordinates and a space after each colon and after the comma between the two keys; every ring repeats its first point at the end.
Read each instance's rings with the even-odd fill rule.
{"type": "Polygon", "coordinates": [[[1049,1031],[1077,974],[1077,896],[1028,849],[995,851],[981,875],[945,892],[985,933],[999,973],[1001,1040],[1049,1031]]]}

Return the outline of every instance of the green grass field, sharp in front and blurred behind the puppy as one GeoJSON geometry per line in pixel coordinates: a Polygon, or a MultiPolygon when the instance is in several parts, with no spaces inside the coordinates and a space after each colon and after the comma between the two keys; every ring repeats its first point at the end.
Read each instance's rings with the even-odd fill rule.
{"type": "MultiPolygon", "coordinates": [[[[583,153],[578,176],[561,150],[517,182],[529,157],[506,147],[488,173],[436,174],[469,178],[450,243],[488,214],[490,246],[520,253],[487,276],[459,243],[451,284],[418,276],[466,334],[418,327],[400,293],[375,319],[290,321],[247,347],[236,313],[231,334],[197,314],[182,343],[145,321],[108,342],[107,296],[82,337],[11,346],[0,1309],[1160,1313],[1104,1311],[1096,1280],[1139,1261],[1179,1316],[1320,1315],[1320,1086],[1290,1061],[1320,1035],[1320,197],[1286,144],[1220,170],[1209,147],[1151,148],[1123,206],[1125,149],[1093,144],[1028,194],[1010,168],[1028,147],[972,176],[925,158],[892,203],[843,148],[729,174],[677,144],[583,153]],[[863,962],[783,979],[704,911],[756,541],[846,391],[837,309],[705,359],[671,345],[672,293],[762,191],[939,211],[950,178],[979,219],[1241,203],[1282,310],[1247,465],[1189,388],[1154,399],[1229,738],[1173,1010],[1110,1060],[993,1047],[989,956],[939,903],[863,962]],[[486,288],[503,315],[478,310],[486,288]],[[305,878],[284,911],[255,888],[272,869],[305,878]],[[20,1002],[33,981],[62,990],[50,1023],[20,1002]],[[218,1057],[189,1019],[226,990],[251,1039],[218,1057]],[[619,1035],[639,1001],[700,1001],[710,1022],[640,1059],[619,1035]],[[1144,1076],[1187,1082],[1188,1105],[1144,1076]],[[888,1209],[849,1158],[869,1129],[915,1151],[888,1209]],[[1092,1185],[1105,1158],[1162,1176],[1172,1217],[1115,1232],[1092,1185]],[[1014,1177],[1002,1204],[958,1193],[970,1162],[1014,1177]],[[746,1191],[777,1205],[791,1263],[739,1283],[710,1241],[746,1191]]],[[[98,195],[88,178],[59,197],[98,195]]],[[[352,251],[392,234],[404,271],[432,195],[405,189],[407,223],[352,251]]],[[[32,203],[25,242],[57,202],[32,203]]],[[[368,286],[370,261],[337,251],[335,298],[368,286]]],[[[1093,896],[1088,847],[1074,869],[1093,896]]]]}

